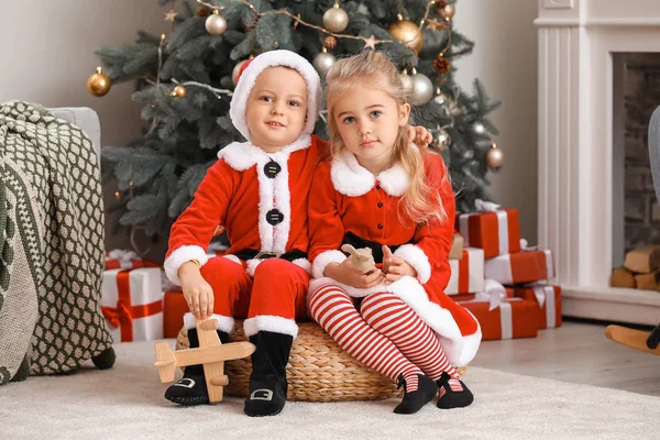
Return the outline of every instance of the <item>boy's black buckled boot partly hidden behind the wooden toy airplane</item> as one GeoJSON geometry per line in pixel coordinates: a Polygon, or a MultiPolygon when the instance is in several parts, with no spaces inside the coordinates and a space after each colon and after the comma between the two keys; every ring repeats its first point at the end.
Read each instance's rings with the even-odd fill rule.
{"type": "MultiPolygon", "coordinates": [[[[216,330],[220,342],[229,342],[229,333],[216,330]]],[[[197,329],[188,330],[188,341],[191,349],[199,348],[199,338],[197,329]]],[[[179,405],[202,405],[209,403],[209,392],[206,387],[206,378],[204,376],[204,365],[188,365],[182,377],[176,384],[172,385],[165,392],[165,398],[179,405]]]]}

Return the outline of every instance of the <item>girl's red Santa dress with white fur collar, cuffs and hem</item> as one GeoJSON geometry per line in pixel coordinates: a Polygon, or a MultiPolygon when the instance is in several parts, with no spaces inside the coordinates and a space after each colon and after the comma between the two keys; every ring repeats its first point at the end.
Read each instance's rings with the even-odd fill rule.
{"type": "Polygon", "coordinates": [[[461,366],[476,354],[481,328],[470,311],[444,294],[451,275],[449,251],[455,202],[442,158],[427,155],[425,169],[428,182],[439,185],[448,219],[417,226],[403,212],[398,213],[398,202],[409,184],[403,166],[395,165],[374,176],[351,152],[344,151],[339,158],[317,167],[309,199],[309,260],[316,278],[310,283],[310,292],[328,283],[339,285],[354,297],[391,292],[438,333],[450,362],[461,366]],[[405,276],[369,289],[324,277],[328,264],[345,260],[339,248],[349,232],[381,244],[398,245],[394,255],[415,267],[417,277],[405,276]]]}

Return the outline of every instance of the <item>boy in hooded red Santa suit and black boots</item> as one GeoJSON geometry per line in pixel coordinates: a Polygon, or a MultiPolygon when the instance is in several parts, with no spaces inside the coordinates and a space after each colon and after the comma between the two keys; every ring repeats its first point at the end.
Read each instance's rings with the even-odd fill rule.
{"type": "MultiPolygon", "coordinates": [[[[199,346],[196,317],[216,319],[223,343],[234,317],[248,318],[244,331],[256,345],[249,416],[283,409],[296,319],[307,317],[307,199],[324,148],[311,134],[320,100],[320,78],[301,56],[272,51],[245,63],[230,117],[248,142],[220,151],[169,235],[165,272],[190,307],[184,317],[190,346],[199,346]],[[208,258],[219,224],[231,248],[223,257],[208,258]]],[[[429,135],[424,129],[415,133],[429,135]]],[[[202,366],[186,367],[165,397],[182,405],[208,403],[202,366]]]]}

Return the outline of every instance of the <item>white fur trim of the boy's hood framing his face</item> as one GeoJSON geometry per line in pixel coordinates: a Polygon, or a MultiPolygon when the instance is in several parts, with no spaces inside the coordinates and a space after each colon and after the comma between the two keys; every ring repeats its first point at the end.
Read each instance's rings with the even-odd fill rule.
{"type": "Polygon", "coordinates": [[[314,66],[307,59],[290,51],[271,51],[250,59],[243,66],[237,79],[237,88],[234,89],[229,116],[234,127],[241,134],[250,140],[250,130],[245,120],[245,107],[248,98],[256,77],[268,67],[286,66],[296,69],[307,82],[307,123],[305,132],[311,134],[316,120],[319,116],[321,105],[322,89],[321,78],[314,66]]]}

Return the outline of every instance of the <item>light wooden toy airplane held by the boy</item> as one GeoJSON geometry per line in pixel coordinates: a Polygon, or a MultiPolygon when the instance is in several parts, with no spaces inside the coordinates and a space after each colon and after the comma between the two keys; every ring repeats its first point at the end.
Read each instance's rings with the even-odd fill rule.
{"type": "Polygon", "coordinates": [[[251,342],[232,342],[222,344],[216,329],[218,321],[207,319],[197,321],[198,349],[178,350],[173,352],[166,341],[156,342],[156,363],[161,382],[174,381],[177,366],[204,365],[209,402],[222,402],[222,387],[229,384],[224,374],[224,361],[248,358],[254,353],[255,346],[251,342]]]}

